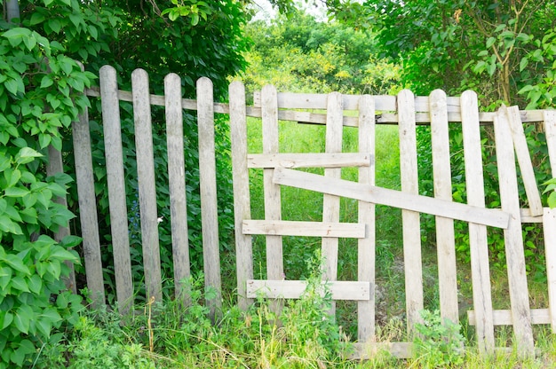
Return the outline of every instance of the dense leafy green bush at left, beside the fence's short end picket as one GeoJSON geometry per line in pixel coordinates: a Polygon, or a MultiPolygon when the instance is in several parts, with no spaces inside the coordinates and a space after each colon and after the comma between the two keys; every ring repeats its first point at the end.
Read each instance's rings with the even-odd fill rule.
{"type": "Polygon", "coordinates": [[[89,106],[83,90],[94,76],[40,32],[5,22],[0,32],[0,367],[8,367],[29,364],[82,308],[61,280],[79,263],[70,248],[81,239],[53,239],[74,217],[55,201],[71,178],[46,177],[44,165],[47,147],[61,150],[61,132],[89,106]]]}

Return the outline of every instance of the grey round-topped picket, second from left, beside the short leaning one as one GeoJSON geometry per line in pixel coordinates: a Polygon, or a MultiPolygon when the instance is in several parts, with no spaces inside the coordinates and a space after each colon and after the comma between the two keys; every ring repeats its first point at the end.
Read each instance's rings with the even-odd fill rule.
{"type": "Polygon", "coordinates": [[[133,303],[131,279],[130,239],[123,182],[123,148],[120,126],[118,86],[114,67],[99,70],[100,102],[107,162],[108,202],[110,204],[110,229],[114,254],[115,289],[120,312],[127,312],[133,303]]]}

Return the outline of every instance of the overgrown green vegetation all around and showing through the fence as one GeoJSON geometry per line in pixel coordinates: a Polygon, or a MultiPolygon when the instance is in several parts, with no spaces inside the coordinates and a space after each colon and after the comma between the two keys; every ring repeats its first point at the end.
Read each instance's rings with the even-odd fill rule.
{"type": "MultiPolygon", "coordinates": [[[[3,4],[7,2],[3,1],[3,4]]],[[[521,107],[544,108],[556,96],[554,68],[556,34],[552,2],[463,2],[425,0],[413,2],[329,0],[334,21],[317,22],[296,11],[290,0],[274,0],[288,17],[270,23],[249,23],[247,2],[196,0],[156,2],[149,0],[79,2],[76,0],[22,0],[20,18],[0,22],[0,368],[34,367],[548,367],[556,359],[556,342],[539,328],[538,346],[543,354],[522,360],[516,353],[480,357],[473,344],[473,328],[442,325],[434,313],[424,312],[417,327],[415,357],[399,360],[378,352],[371,360],[349,360],[350,339],[355,336],[353,306],[338,302],[338,320],[327,315],[330,295],[320,283],[319,262],[309,267],[320,243],[318,239],[287,239],[287,277],[307,279],[306,294],[286,302],[276,316],[268,302],[259,299],[247,312],[234,307],[234,263],[223,273],[231,276],[226,301],[216,324],[203,305],[213,291],[203,291],[202,277],[189,283],[193,304],[174,301],[170,288],[165,302],[146,302],[141,296],[142,262],[139,232],[137,162],[131,105],[122,104],[126,193],[137,307],[134,317],[121,317],[114,306],[110,219],[99,104],[90,105],[83,90],[95,82],[99,67],[118,70],[121,88],[128,89],[128,76],[136,67],[147,69],[152,91],[161,93],[163,75],[178,73],[184,97],[195,98],[195,81],[208,76],[217,98],[226,98],[229,78],[242,74],[248,90],[273,83],[279,90],[326,93],[395,94],[408,87],[426,95],[435,88],[457,95],[477,90],[484,108],[494,110],[501,102],[521,107]],[[171,4],[170,4],[171,3],[171,4]],[[248,37],[251,39],[249,41],[248,37]],[[249,51],[249,44],[253,47],[249,51]],[[248,52],[249,51],[249,52],[248,52]],[[383,58],[385,57],[385,58],[383,58]],[[75,62],[83,62],[87,72],[75,62]],[[247,68],[247,63],[250,67],[247,68]],[[423,76],[426,76],[424,78],[423,76]],[[160,82],[157,82],[160,81],[160,82]],[[53,238],[60,226],[70,224],[79,234],[73,214],[54,200],[69,194],[70,210],[76,210],[69,126],[89,107],[96,193],[107,281],[108,307],[83,310],[82,298],[69,293],[61,278],[68,264],[75,263],[79,287],[83,267],[70,249],[79,239],[53,238]],[[49,145],[68,153],[68,175],[47,177],[45,163],[49,145]],[[277,324],[277,322],[281,324],[277,324]],[[124,323],[124,324],[123,324],[124,323]],[[448,335],[452,340],[446,340],[448,335]]],[[[5,14],[4,14],[5,16],[5,14]]],[[[162,109],[154,109],[154,122],[163,122],[162,109]]],[[[198,195],[195,114],[186,114],[186,167],[188,225],[192,270],[200,271],[202,247],[198,195]]],[[[258,122],[251,122],[250,137],[258,137],[258,122]]],[[[217,166],[221,249],[233,260],[233,212],[229,140],[226,117],[217,119],[217,166]]],[[[282,127],[281,149],[290,152],[322,151],[319,127],[282,127]],[[303,133],[301,132],[303,130],[303,133]],[[309,133],[307,133],[309,131],[309,133]]],[[[155,125],[157,192],[167,193],[164,128],[155,125]]],[[[398,189],[399,157],[395,127],[377,130],[377,185],[398,189]]],[[[538,169],[537,182],[546,184],[548,204],[553,205],[544,132],[526,127],[528,145],[538,169]]],[[[488,207],[499,206],[496,155],[492,131],[483,128],[483,147],[488,207]]],[[[461,150],[461,131],[450,131],[453,152],[461,150]]],[[[250,152],[259,143],[250,142],[250,152]]],[[[346,130],[346,151],[354,151],[353,130],[346,130]],[[353,150],[352,150],[353,149],[353,150]]],[[[420,191],[433,192],[430,132],[419,128],[420,191]]],[[[465,202],[463,161],[453,155],[454,199],[465,202]]],[[[260,173],[252,176],[254,215],[260,202],[260,173]]],[[[354,178],[356,173],[343,172],[354,178]]],[[[521,195],[524,194],[520,186],[521,195]]],[[[285,218],[319,219],[322,196],[289,189],[285,199],[296,199],[284,209],[285,218]],[[304,204],[300,206],[299,204],[304,204]]],[[[169,219],[169,203],[158,199],[158,216],[169,219]]],[[[522,203],[525,203],[523,196],[522,203]]],[[[342,203],[342,220],[355,222],[353,203],[342,203]]],[[[401,265],[401,215],[377,207],[377,337],[404,341],[404,296],[401,265]]],[[[424,217],[425,305],[438,308],[434,260],[433,217],[424,217]]],[[[530,280],[545,282],[544,250],[538,247],[542,232],[527,226],[526,256],[530,280]],[[531,278],[532,277],[532,278],[531,278]]],[[[464,266],[469,262],[465,224],[457,224],[457,253],[464,266]]],[[[164,276],[172,275],[169,222],[160,228],[164,276]]],[[[342,240],[339,270],[342,279],[356,275],[356,247],[342,240]]],[[[255,239],[256,268],[264,276],[265,247],[255,239]]],[[[504,298],[504,238],[489,235],[495,296],[504,298]],[[501,276],[500,278],[498,278],[501,276]]],[[[471,287],[461,278],[462,302],[471,287]]],[[[169,284],[171,285],[171,284],[169,284]]],[[[543,285],[544,286],[544,285],[543,285]]],[[[532,288],[533,305],[544,307],[545,287],[532,288]]],[[[225,294],[227,295],[227,294],[225,294]]],[[[498,304],[500,302],[495,302],[498,304]]],[[[498,334],[501,345],[511,333],[498,334]],[[504,335],[505,334],[505,335],[504,335]]]]}

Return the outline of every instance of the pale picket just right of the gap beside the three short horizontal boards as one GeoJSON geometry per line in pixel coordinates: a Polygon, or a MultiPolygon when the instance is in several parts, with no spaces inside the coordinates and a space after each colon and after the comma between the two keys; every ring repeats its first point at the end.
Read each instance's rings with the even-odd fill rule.
{"type": "MultiPolygon", "coordinates": [[[[415,122],[415,97],[410,90],[398,94],[398,114],[400,122],[400,169],[401,191],[406,194],[418,193],[417,136],[415,122]]],[[[403,260],[405,268],[405,295],[409,336],[415,324],[420,321],[419,311],[424,309],[423,266],[421,260],[421,224],[419,213],[402,210],[403,260]]]]}

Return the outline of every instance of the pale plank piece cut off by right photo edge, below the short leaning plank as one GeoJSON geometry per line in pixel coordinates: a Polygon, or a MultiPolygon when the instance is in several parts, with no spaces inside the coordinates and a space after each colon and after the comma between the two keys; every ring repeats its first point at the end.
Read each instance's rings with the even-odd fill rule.
{"type": "Polygon", "coordinates": [[[548,310],[552,333],[556,333],[556,210],[544,208],[544,255],[548,282],[548,310]]]}

